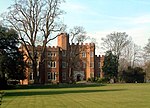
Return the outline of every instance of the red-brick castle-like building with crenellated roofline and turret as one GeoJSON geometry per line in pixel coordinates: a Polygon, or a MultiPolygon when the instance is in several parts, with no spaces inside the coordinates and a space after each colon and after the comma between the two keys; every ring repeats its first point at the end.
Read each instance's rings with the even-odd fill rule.
{"type": "MultiPolygon", "coordinates": [[[[66,33],[58,35],[57,43],[57,46],[46,47],[44,62],[38,64],[39,83],[67,83],[88,80],[92,77],[103,77],[104,56],[95,55],[94,43],[70,45],[69,36],[66,33]]],[[[37,46],[36,50],[38,57],[42,47],[37,46]]],[[[30,59],[27,62],[27,79],[22,81],[22,84],[32,84],[34,81],[32,63],[30,59]]]]}

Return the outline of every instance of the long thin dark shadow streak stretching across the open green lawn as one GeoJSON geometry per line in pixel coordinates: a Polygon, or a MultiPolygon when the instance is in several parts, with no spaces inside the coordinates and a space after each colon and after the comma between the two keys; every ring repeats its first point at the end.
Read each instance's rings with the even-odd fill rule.
{"type": "Polygon", "coordinates": [[[95,92],[115,92],[124,91],[126,89],[108,89],[108,90],[50,90],[50,91],[18,91],[7,92],[5,96],[34,96],[34,95],[57,95],[57,94],[69,94],[69,93],[95,93],[95,92]]]}

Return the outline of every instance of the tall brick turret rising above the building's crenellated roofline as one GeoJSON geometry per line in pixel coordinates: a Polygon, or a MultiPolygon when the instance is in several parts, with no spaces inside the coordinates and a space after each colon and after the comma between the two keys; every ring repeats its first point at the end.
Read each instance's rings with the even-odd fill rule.
{"type": "Polygon", "coordinates": [[[59,34],[57,44],[58,44],[58,47],[62,48],[63,50],[67,50],[69,46],[68,34],[67,33],[59,34]]]}

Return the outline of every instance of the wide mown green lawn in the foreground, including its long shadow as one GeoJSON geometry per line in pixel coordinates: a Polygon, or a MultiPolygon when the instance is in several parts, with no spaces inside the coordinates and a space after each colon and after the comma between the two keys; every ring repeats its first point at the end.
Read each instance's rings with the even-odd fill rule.
{"type": "Polygon", "coordinates": [[[150,108],[150,84],[5,90],[0,108],[150,108]]]}

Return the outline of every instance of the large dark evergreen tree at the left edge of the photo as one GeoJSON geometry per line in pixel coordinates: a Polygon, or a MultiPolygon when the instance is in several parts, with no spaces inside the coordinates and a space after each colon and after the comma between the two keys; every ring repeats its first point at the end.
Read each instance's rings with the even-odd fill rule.
{"type": "Polygon", "coordinates": [[[0,87],[5,87],[8,79],[25,78],[23,53],[19,51],[18,45],[16,31],[0,26],[0,87]]]}

